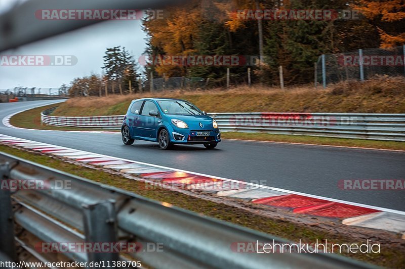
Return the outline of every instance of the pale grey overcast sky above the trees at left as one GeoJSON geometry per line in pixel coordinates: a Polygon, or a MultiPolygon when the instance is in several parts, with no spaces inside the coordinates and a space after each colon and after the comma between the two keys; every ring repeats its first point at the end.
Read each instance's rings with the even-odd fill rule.
{"type": "MultiPolygon", "coordinates": [[[[14,2],[17,0],[0,0],[0,13],[14,2]]],[[[145,50],[145,38],[140,20],[118,20],[5,51],[2,55],[71,55],[78,62],[74,66],[0,66],[0,89],[59,87],[76,77],[101,74],[107,47],[125,46],[138,60],[145,50]]]]}

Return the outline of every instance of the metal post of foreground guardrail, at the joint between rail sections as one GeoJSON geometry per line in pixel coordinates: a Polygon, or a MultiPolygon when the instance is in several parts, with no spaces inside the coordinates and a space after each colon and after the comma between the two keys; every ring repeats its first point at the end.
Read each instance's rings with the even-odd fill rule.
{"type": "MultiPolygon", "coordinates": [[[[114,204],[115,201],[111,199],[96,204],[83,204],[86,242],[113,243],[118,241],[114,204]]],[[[119,253],[89,252],[88,258],[89,262],[117,261],[119,253]]]]}

